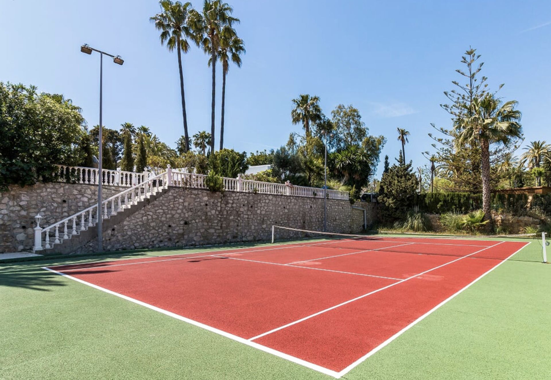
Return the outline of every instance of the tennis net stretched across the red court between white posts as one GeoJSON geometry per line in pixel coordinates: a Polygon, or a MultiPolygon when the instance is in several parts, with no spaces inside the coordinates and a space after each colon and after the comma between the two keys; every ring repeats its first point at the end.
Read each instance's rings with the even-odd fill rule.
{"type": "Polygon", "coordinates": [[[534,262],[547,261],[545,247],[549,240],[544,236],[538,233],[493,236],[396,232],[343,234],[272,226],[272,243],[287,241],[320,248],[534,262]]]}

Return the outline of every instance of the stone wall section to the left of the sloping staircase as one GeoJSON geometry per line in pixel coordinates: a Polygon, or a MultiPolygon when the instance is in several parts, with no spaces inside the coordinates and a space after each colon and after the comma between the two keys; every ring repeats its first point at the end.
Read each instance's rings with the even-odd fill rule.
{"type": "MultiPolygon", "coordinates": [[[[123,189],[104,186],[107,199],[123,189]]],[[[33,186],[10,186],[0,192],[0,253],[30,250],[34,244],[35,215],[43,217],[40,225],[48,226],[84,210],[97,202],[96,185],[37,183],[33,186]]]]}

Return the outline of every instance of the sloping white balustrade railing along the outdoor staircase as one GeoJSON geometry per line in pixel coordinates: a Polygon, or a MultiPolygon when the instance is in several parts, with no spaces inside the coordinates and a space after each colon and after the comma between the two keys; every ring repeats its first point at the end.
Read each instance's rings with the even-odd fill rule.
{"type": "Polygon", "coordinates": [[[113,215],[117,215],[117,212],[124,211],[132,205],[137,205],[138,201],[145,199],[148,195],[163,191],[170,184],[169,173],[170,168],[168,172],[156,175],[107,198],[101,202],[100,210],[98,210],[98,204],[95,204],[45,228],[40,227],[42,217],[36,215],[34,250],[52,248],[53,244],[59,244],[64,239],[68,239],[69,236],[77,235],[80,231],[85,231],[88,227],[94,226],[100,215],[102,218],[108,219],[113,215]],[[42,234],[44,234],[44,240],[42,234]],[[42,247],[43,241],[44,248],[42,247]]]}

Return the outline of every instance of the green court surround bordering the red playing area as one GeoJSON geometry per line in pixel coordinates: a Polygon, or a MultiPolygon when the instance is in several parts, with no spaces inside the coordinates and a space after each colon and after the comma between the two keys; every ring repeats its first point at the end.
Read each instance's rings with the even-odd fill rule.
{"type": "MultiPolygon", "coordinates": [[[[331,378],[40,269],[181,252],[0,264],[0,378],[331,378]]],[[[508,261],[344,378],[548,379],[550,358],[551,265],[508,261]]]]}

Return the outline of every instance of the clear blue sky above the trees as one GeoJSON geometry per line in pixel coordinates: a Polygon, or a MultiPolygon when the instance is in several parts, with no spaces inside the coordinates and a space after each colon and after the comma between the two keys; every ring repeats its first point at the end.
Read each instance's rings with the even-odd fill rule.
{"type": "MultiPolygon", "coordinates": [[[[291,99],[309,93],[321,98],[327,115],[339,103],[358,108],[370,133],[388,139],[381,161],[397,157],[396,127],[406,128],[406,158],[423,165],[430,123],[450,125],[439,104],[469,45],[482,54],[490,86],[505,83],[500,95],[519,101],[526,141],[551,142],[549,1],[230,4],[247,53],[228,74],[225,147],[251,152],[284,144],[300,131],[291,124],[291,99]]],[[[104,62],[104,125],[147,125],[174,147],[183,134],[179,77],[175,53],[160,45],[148,20],[158,10],[154,0],[0,0],[0,81],[63,93],[92,126],[99,55],[84,55],[79,46],[119,54],[124,66],[104,62]]],[[[191,135],[210,129],[207,60],[197,47],[183,58],[191,135]]],[[[218,148],[221,76],[217,81],[218,148]]]]}

